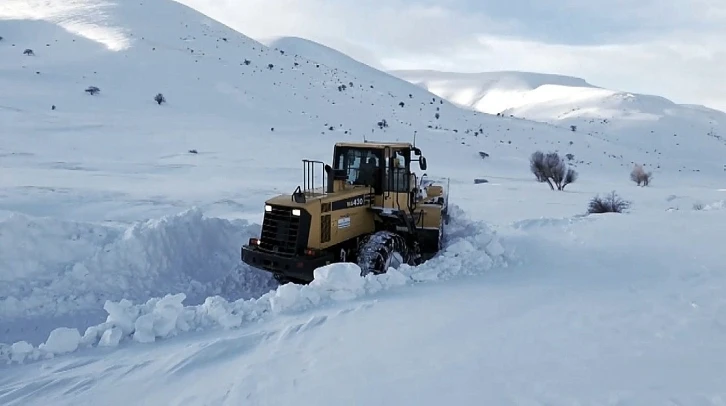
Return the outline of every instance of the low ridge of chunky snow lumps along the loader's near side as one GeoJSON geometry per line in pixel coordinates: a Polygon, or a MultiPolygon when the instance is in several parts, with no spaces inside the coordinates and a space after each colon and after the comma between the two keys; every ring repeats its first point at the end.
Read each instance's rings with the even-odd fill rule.
{"type": "Polygon", "coordinates": [[[352,263],[332,264],[315,271],[309,285],[286,284],[259,298],[228,301],[208,297],[204,303],[184,306],[184,293],[154,298],[143,304],[123,299],[106,301],[105,322],[89,327],[83,335],[61,328],[38,347],[27,342],[0,344],[0,359],[8,363],[50,358],[79,348],[114,347],[125,341],[150,343],[187,331],[236,328],[245,323],[297,312],[325,303],[353,300],[381,291],[425,281],[485,272],[506,266],[509,254],[496,235],[483,223],[468,221],[452,207],[446,247],[433,259],[417,266],[403,266],[382,275],[360,276],[352,263]]]}

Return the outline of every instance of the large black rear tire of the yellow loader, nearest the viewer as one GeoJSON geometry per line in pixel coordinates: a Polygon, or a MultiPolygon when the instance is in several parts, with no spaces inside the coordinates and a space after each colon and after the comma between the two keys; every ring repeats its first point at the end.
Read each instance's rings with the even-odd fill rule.
{"type": "Polygon", "coordinates": [[[398,269],[401,264],[412,263],[406,240],[390,231],[379,231],[367,236],[359,245],[357,257],[361,276],[382,274],[389,267],[398,269]]]}

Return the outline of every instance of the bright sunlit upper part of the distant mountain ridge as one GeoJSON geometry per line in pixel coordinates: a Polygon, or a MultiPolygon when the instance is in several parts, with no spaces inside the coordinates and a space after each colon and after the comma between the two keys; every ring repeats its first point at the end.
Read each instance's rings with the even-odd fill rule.
{"type": "Polygon", "coordinates": [[[393,70],[460,106],[489,114],[529,116],[533,120],[622,119],[660,117],[701,119],[723,124],[726,113],[705,106],[676,104],[664,97],[605,89],[581,78],[533,72],[459,73],[393,70]]]}

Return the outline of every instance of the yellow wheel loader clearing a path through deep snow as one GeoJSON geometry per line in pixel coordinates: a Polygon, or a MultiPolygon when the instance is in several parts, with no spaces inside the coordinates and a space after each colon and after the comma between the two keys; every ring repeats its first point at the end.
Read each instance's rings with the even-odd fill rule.
{"type": "Polygon", "coordinates": [[[364,276],[430,259],[448,224],[449,180],[419,177],[412,162],[426,170],[415,145],[384,142],[337,143],[332,166],[304,159],[303,185],[265,202],[261,234],[242,246],[242,261],[305,284],[336,262],[356,263],[364,276]]]}

